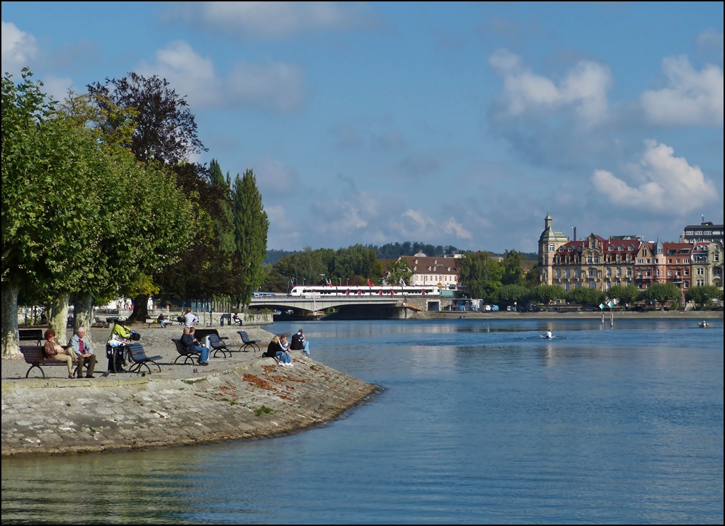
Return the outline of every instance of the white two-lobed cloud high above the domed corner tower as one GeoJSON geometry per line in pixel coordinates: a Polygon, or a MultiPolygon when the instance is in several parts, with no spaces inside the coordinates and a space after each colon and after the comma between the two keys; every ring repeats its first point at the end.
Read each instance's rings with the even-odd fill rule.
{"type": "Polygon", "coordinates": [[[503,78],[497,109],[499,118],[571,109],[581,125],[590,127],[605,117],[607,90],[612,80],[608,67],[602,64],[581,60],[558,85],[550,78],[531,72],[521,57],[506,49],[494,51],[489,64],[503,78]]]}

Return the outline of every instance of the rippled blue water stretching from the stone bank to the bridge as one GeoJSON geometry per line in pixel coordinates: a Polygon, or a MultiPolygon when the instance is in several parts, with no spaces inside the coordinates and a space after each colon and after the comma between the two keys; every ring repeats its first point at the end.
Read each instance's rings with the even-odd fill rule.
{"type": "Polygon", "coordinates": [[[3,460],[2,522],[722,524],[711,325],[310,323],[315,359],[383,391],[283,438],[3,460]]]}

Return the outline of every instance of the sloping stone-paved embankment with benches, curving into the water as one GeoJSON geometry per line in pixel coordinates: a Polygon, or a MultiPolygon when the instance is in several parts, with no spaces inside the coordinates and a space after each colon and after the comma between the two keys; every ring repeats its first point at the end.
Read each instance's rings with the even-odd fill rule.
{"type": "MultiPolygon", "coordinates": [[[[157,351],[154,338],[169,347],[162,343],[166,331],[144,332],[148,354],[157,351]]],[[[100,334],[94,339],[101,341],[100,334]]],[[[210,359],[207,368],[174,366],[171,355],[161,360],[162,374],[145,377],[99,376],[102,360],[90,380],[64,379],[58,374],[63,367],[47,367],[46,380],[15,379],[6,376],[8,367],[25,371],[29,366],[3,360],[2,456],[135,451],[286,435],[335,419],[376,391],[299,351],[291,354],[294,367],[277,367],[257,351],[210,359]]]]}

